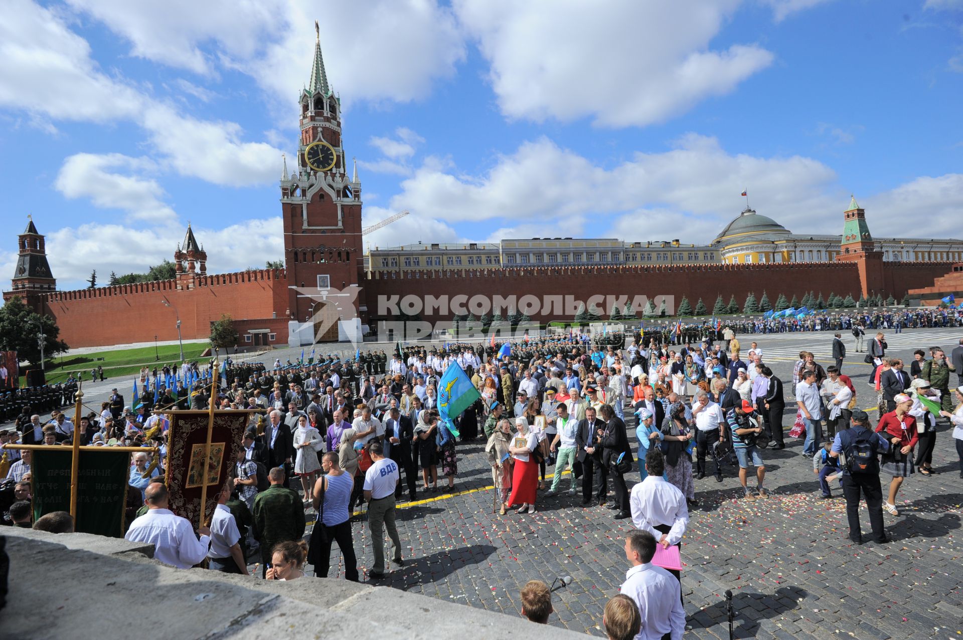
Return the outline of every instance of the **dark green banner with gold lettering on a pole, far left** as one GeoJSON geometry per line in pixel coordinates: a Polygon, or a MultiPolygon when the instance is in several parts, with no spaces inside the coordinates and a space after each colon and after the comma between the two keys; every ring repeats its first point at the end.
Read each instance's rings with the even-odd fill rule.
{"type": "MultiPolygon", "coordinates": [[[[34,520],[53,511],[70,510],[68,447],[33,452],[34,520]]],[[[130,453],[101,448],[81,451],[77,474],[77,517],[74,530],[120,537],[124,534],[124,504],[130,477],[130,453]]]]}

